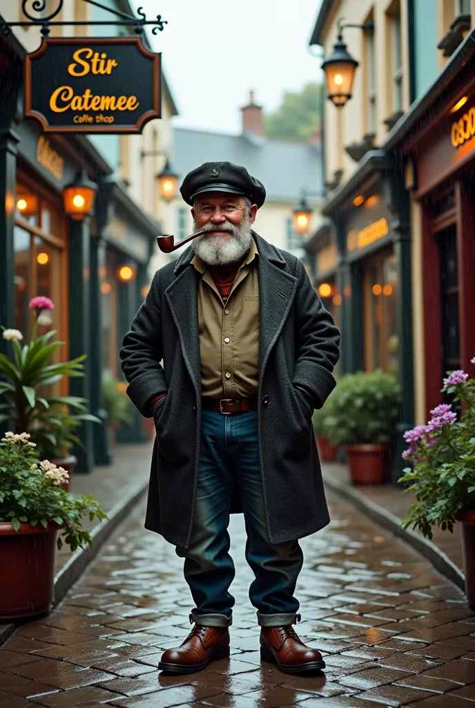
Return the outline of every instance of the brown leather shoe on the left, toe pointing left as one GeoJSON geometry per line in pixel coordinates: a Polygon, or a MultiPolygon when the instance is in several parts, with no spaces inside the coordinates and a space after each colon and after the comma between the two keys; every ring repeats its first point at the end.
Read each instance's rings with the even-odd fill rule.
{"type": "Polygon", "coordinates": [[[167,649],[158,668],[170,673],[193,673],[206,668],[213,659],[229,656],[228,627],[195,624],[181,646],[167,649]]]}

